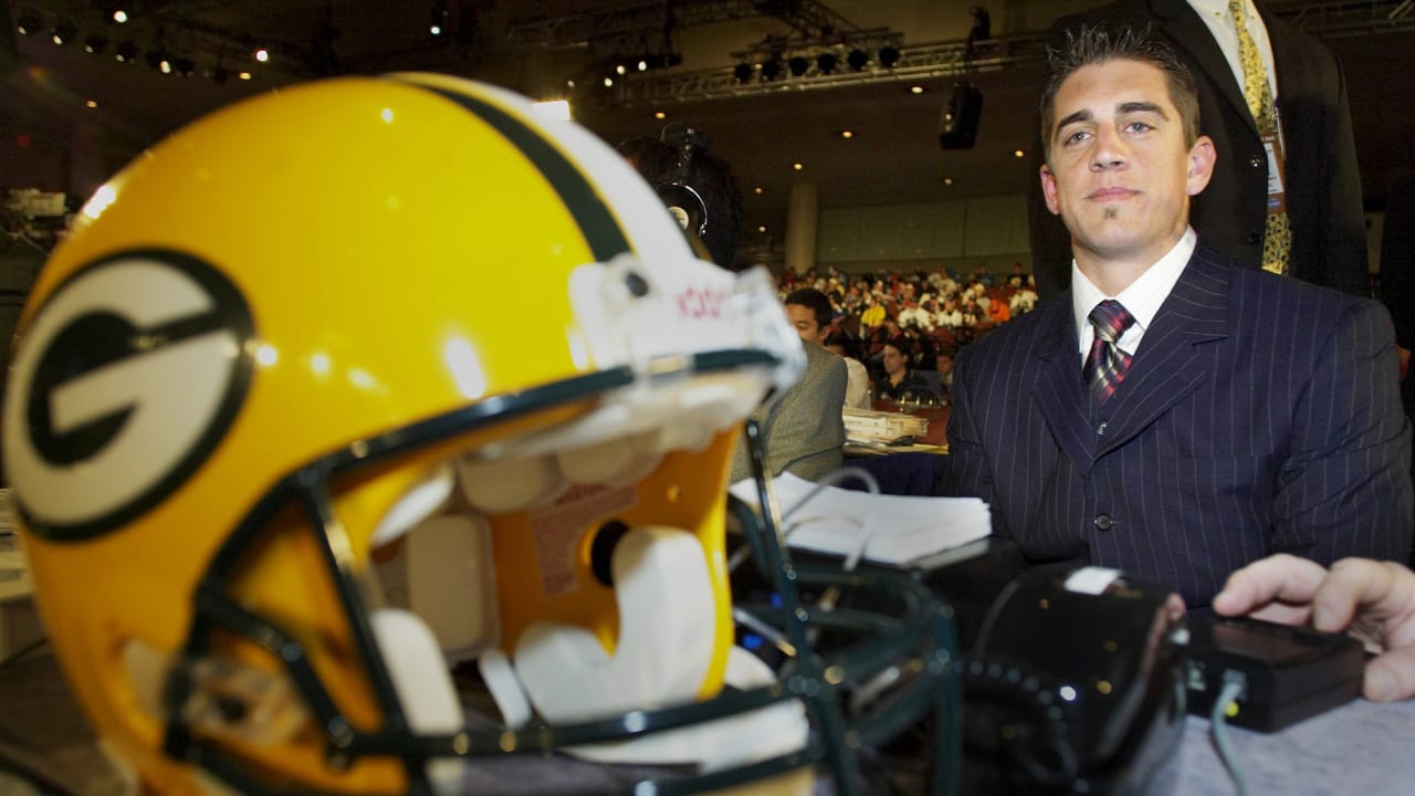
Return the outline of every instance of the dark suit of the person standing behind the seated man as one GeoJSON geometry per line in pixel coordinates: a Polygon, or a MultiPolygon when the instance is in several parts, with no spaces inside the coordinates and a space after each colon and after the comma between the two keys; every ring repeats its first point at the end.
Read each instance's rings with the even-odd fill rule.
{"type": "MultiPolygon", "coordinates": [[[[1259,13],[1278,71],[1276,103],[1286,142],[1289,273],[1370,296],[1361,176],[1340,64],[1312,35],[1259,13]]],[[[1186,57],[1199,84],[1200,132],[1214,140],[1218,152],[1208,187],[1194,197],[1190,225],[1204,245],[1241,265],[1261,268],[1266,156],[1242,88],[1199,14],[1184,0],[1119,0],[1058,18],[1051,45],[1060,47],[1064,31],[1081,24],[1146,23],[1186,57]]],[[[1071,285],[1071,237],[1047,211],[1036,180],[1029,194],[1029,221],[1037,293],[1050,299],[1071,285]]]]}

